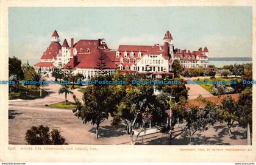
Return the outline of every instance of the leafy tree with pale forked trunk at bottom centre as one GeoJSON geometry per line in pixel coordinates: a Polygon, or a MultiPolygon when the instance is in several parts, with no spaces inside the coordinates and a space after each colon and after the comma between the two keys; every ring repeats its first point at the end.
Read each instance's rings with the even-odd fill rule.
{"type": "Polygon", "coordinates": [[[165,107],[154,95],[152,85],[127,85],[126,95],[118,104],[119,118],[127,125],[131,144],[135,144],[138,136],[145,130],[145,124],[150,120],[161,122],[165,116],[165,107]],[[133,139],[135,124],[142,125],[142,129],[133,139]]]}

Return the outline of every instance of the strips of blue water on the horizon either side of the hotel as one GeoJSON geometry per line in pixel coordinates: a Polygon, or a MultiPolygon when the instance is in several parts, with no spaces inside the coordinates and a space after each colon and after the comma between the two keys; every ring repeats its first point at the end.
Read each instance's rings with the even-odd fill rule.
{"type": "MultiPolygon", "coordinates": [[[[29,59],[29,65],[35,65],[40,59],[29,59]]],[[[22,63],[27,63],[27,59],[21,59],[22,63]]],[[[224,65],[252,63],[251,57],[240,58],[240,57],[222,57],[222,58],[209,58],[209,65],[215,65],[215,67],[222,67],[224,65]]]]}

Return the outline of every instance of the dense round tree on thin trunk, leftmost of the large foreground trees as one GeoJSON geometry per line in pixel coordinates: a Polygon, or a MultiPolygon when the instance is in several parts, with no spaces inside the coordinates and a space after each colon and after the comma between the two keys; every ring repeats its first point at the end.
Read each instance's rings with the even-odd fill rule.
{"type": "MultiPolygon", "coordinates": [[[[96,75],[95,80],[111,80],[108,75],[96,75]]],[[[111,85],[91,84],[85,88],[83,96],[84,104],[74,96],[76,100],[76,110],[73,112],[77,118],[81,118],[84,124],[91,122],[96,124],[96,138],[99,138],[99,125],[108,119],[109,114],[113,114],[116,107],[115,96],[110,88],[111,85]]]]}

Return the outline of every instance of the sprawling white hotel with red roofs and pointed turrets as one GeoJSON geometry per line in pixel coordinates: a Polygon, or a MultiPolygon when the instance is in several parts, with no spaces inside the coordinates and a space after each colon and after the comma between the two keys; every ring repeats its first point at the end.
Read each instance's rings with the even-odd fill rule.
{"type": "Polygon", "coordinates": [[[182,68],[208,67],[208,49],[200,47],[198,51],[174,49],[173,38],[169,31],[163,37],[163,44],[119,45],[117,50],[107,46],[104,38],[98,40],[79,40],[70,45],[65,39],[60,44],[59,34],[52,33],[51,44],[41,56],[41,61],[34,65],[36,70],[51,73],[55,69],[72,69],[90,79],[98,71],[99,63],[110,74],[119,69],[123,72],[151,74],[160,78],[163,74],[172,75],[172,61],[180,60],[182,68]]]}

